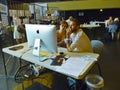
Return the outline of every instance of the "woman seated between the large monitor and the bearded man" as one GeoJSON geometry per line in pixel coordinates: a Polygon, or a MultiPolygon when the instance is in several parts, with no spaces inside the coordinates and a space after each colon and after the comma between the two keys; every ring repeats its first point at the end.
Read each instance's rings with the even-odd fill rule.
{"type": "Polygon", "coordinates": [[[64,39],[66,37],[66,29],[68,24],[66,21],[61,21],[60,30],[57,30],[57,45],[61,47],[65,47],[64,39]]]}

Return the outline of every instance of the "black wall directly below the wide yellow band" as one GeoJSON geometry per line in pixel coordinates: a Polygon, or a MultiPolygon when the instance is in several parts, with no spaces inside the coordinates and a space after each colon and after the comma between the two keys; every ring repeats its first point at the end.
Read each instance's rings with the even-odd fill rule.
{"type": "Polygon", "coordinates": [[[120,8],[110,8],[110,9],[91,9],[91,10],[66,10],[60,11],[61,17],[67,19],[69,16],[73,16],[80,20],[81,23],[89,23],[89,21],[104,21],[112,16],[113,18],[119,17],[120,18],[120,8]]]}

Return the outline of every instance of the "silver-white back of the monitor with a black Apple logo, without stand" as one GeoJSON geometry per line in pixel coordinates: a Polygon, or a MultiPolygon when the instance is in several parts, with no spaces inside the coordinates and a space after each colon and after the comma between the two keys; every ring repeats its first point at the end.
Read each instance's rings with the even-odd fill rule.
{"type": "Polygon", "coordinates": [[[57,53],[55,25],[25,24],[28,47],[33,48],[36,39],[40,39],[40,50],[57,53]]]}

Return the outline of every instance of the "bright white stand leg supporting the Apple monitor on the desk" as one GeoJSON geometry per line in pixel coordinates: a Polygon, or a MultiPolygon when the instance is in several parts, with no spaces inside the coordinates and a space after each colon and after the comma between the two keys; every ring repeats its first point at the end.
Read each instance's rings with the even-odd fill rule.
{"type": "Polygon", "coordinates": [[[40,52],[40,39],[35,39],[32,54],[35,56],[39,56],[40,55],[39,52],[40,52]]]}

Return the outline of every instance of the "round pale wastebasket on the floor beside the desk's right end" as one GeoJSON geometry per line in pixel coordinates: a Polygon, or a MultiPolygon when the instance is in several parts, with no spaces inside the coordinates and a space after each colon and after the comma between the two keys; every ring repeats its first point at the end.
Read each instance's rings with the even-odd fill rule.
{"type": "Polygon", "coordinates": [[[100,90],[104,86],[104,80],[100,75],[89,74],[85,77],[88,90],[100,90]]]}

